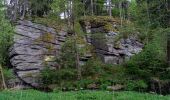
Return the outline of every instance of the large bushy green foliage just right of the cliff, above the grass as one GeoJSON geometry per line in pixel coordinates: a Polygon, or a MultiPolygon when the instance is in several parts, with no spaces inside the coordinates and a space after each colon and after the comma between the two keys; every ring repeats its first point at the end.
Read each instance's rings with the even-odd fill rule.
{"type": "Polygon", "coordinates": [[[156,29],[154,33],[152,41],[144,50],[125,64],[128,77],[133,80],[128,83],[129,89],[144,87],[144,83],[148,84],[152,77],[161,78],[166,72],[166,32],[156,29]],[[144,83],[136,80],[143,80],[144,83]]]}

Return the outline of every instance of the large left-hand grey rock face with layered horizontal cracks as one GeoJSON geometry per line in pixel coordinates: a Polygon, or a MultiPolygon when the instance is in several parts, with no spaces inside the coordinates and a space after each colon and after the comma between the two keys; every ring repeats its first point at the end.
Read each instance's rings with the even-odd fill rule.
{"type": "Polygon", "coordinates": [[[15,27],[14,44],[10,49],[10,62],[16,76],[32,87],[41,87],[40,71],[46,66],[56,68],[54,56],[59,55],[66,32],[18,21],[15,27]]]}

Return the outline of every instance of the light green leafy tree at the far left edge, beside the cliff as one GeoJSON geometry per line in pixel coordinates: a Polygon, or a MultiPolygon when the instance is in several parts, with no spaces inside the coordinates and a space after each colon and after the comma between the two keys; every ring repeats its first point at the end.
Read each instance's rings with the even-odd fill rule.
{"type": "Polygon", "coordinates": [[[12,33],[13,28],[9,21],[5,19],[5,10],[6,7],[4,4],[2,4],[4,0],[0,0],[0,73],[2,78],[2,84],[3,87],[6,89],[5,84],[5,78],[4,78],[4,72],[2,66],[7,66],[9,63],[9,54],[7,51],[9,51],[9,47],[12,44],[12,33]]]}

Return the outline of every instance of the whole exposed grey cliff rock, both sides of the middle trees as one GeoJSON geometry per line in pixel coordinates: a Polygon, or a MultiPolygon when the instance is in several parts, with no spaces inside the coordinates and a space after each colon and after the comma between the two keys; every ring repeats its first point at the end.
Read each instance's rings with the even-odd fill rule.
{"type": "MultiPolygon", "coordinates": [[[[142,50],[143,44],[134,36],[115,41],[120,34],[117,31],[120,25],[118,22],[110,19],[94,22],[94,19],[85,20],[80,24],[87,33],[85,40],[95,48],[95,53],[103,62],[120,64],[142,50]],[[113,30],[108,31],[110,29],[113,30]]],[[[57,68],[54,59],[59,57],[61,45],[67,36],[64,30],[57,33],[55,29],[41,24],[18,21],[15,27],[14,44],[9,55],[15,75],[21,83],[35,88],[43,87],[40,72],[46,66],[57,68]]],[[[87,58],[83,57],[82,63],[84,58],[87,61],[89,57],[91,55],[87,58]]]]}

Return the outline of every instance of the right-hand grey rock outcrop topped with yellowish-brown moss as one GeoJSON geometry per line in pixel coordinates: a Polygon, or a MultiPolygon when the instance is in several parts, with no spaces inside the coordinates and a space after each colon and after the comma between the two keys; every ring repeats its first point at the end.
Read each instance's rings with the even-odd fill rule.
{"type": "Polygon", "coordinates": [[[118,30],[120,23],[118,19],[110,17],[86,17],[80,20],[87,33],[87,42],[95,47],[95,52],[105,63],[120,64],[138,54],[144,46],[134,35],[116,41],[121,34],[118,30]]]}

